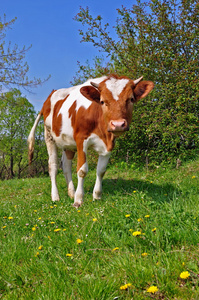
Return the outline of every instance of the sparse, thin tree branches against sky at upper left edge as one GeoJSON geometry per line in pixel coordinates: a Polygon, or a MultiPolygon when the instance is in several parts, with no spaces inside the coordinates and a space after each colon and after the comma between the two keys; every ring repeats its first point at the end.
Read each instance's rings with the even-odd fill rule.
{"type": "Polygon", "coordinates": [[[30,89],[41,85],[49,79],[48,77],[42,81],[37,78],[31,80],[28,78],[29,66],[24,59],[31,46],[28,48],[24,46],[22,49],[19,49],[17,45],[12,47],[11,43],[6,45],[6,30],[9,29],[15,21],[16,18],[6,21],[5,15],[3,20],[0,18],[0,91],[2,90],[2,85],[7,88],[22,86],[25,89],[30,89]]]}

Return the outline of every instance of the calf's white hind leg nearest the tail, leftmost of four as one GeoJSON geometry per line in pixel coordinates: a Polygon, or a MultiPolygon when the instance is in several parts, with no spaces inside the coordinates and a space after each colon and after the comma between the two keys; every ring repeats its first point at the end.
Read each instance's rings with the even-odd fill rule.
{"type": "Polygon", "coordinates": [[[50,131],[45,127],[45,141],[46,147],[48,151],[48,167],[49,167],[49,175],[51,179],[51,198],[52,201],[59,201],[59,193],[56,184],[56,175],[58,169],[57,163],[57,146],[52,139],[50,131]]]}

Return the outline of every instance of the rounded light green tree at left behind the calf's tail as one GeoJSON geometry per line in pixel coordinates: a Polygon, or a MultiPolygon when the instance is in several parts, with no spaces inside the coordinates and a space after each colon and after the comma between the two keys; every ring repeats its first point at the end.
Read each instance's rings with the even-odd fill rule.
{"type": "MultiPolygon", "coordinates": [[[[0,96],[1,179],[14,176],[20,178],[28,172],[27,137],[34,119],[35,111],[32,104],[21,95],[19,90],[13,89],[0,96]]],[[[36,158],[38,158],[36,170],[41,170],[41,159],[42,162],[46,159],[44,148],[44,139],[40,128],[36,137],[35,152],[36,158]]]]}

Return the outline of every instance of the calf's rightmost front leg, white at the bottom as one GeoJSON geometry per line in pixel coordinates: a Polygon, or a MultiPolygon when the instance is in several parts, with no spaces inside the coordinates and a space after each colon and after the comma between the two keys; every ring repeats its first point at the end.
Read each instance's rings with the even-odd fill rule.
{"type": "Polygon", "coordinates": [[[93,189],[93,200],[101,199],[102,195],[102,179],[106,172],[106,166],[108,164],[110,158],[110,154],[106,156],[99,155],[98,163],[97,163],[97,177],[95,186],[93,189]]]}

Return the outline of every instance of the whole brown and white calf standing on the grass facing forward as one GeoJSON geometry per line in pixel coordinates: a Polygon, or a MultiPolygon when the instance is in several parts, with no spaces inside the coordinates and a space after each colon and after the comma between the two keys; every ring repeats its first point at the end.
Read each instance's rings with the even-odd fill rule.
{"type": "Polygon", "coordinates": [[[102,178],[115,138],[129,129],[133,104],[147,96],[153,87],[153,82],[143,81],[142,77],[131,80],[109,75],[88,80],[82,85],[53,91],[49,95],[31,129],[28,143],[31,163],[35,130],[43,115],[53,201],[59,200],[56,184],[57,147],[63,150],[63,172],[68,184],[68,195],[74,197],[75,207],[83,202],[83,183],[88,172],[87,149],[92,147],[97,151],[99,159],[93,199],[101,198],[102,178]],[[78,177],[76,191],[71,172],[75,151],[78,177]]]}

